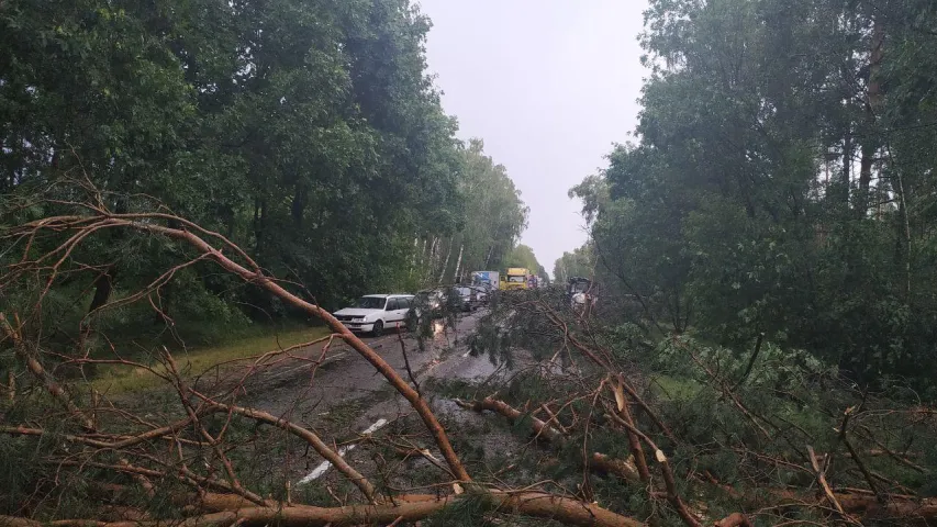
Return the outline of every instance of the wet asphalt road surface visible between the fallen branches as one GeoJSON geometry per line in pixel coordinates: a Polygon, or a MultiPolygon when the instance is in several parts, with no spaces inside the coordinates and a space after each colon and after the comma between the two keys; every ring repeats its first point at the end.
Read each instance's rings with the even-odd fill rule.
{"type": "MultiPolygon", "coordinates": [[[[483,311],[461,316],[455,328],[448,330],[437,324],[436,334],[425,343],[424,350],[420,350],[416,340],[405,332],[399,335],[391,330],[382,337],[364,340],[404,379],[410,380],[401,349],[402,338],[413,379],[421,385],[431,378],[483,379],[498,368],[487,357],[470,356],[465,345],[465,339],[471,335],[481,316],[483,311]]],[[[316,361],[324,357],[319,365],[291,360],[255,373],[244,383],[237,403],[313,429],[330,442],[333,439],[342,441],[376,433],[402,416],[412,416],[410,405],[383,375],[350,347],[336,343],[325,354],[322,344],[306,347],[297,354],[316,361]]],[[[480,418],[425,388],[423,395],[444,422],[480,418]]],[[[432,441],[423,441],[423,447],[433,450],[432,441]]],[[[365,453],[359,455],[360,449],[353,452],[356,450],[355,444],[342,446],[338,450],[359,468],[370,464],[365,453]]],[[[438,456],[438,452],[435,455],[438,456]]],[[[320,483],[337,476],[315,452],[306,450],[303,459],[295,461],[287,470],[297,485],[320,483]]],[[[373,470],[373,467],[364,470],[373,470]]]]}

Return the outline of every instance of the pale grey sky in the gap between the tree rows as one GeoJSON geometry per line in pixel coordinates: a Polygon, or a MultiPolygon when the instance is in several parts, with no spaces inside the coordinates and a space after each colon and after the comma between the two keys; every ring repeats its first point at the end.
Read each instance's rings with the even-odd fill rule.
{"type": "Polygon", "coordinates": [[[522,242],[553,272],[585,240],[570,187],[634,128],[646,0],[419,0],[433,20],[430,70],[531,208],[522,242]]]}

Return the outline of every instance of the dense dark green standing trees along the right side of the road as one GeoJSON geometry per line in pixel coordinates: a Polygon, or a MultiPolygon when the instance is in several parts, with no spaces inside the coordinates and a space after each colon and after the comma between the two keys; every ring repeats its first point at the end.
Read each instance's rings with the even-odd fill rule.
{"type": "Polygon", "coordinates": [[[639,305],[626,321],[933,388],[935,20],[919,1],[652,1],[637,142],[570,191],[599,280],[639,305]]]}

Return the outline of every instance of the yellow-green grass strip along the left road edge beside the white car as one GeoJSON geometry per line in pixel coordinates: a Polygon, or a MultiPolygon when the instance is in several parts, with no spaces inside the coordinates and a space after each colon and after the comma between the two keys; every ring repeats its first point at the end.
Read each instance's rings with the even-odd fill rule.
{"type": "MultiPolygon", "coordinates": [[[[259,333],[241,338],[232,338],[228,343],[215,346],[171,350],[177,366],[185,375],[198,374],[208,369],[236,359],[263,355],[267,351],[288,348],[308,343],[328,335],[327,327],[266,327],[259,333]]],[[[152,366],[158,372],[166,368],[153,357],[136,359],[137,362],[152,366]]],[[[91,386],[100,393],[119,395],[149,390],[165,381],[144,368],[133,368],[122,365],[108,365],[98,369],[98,374],[91,381],[91,386]]]]}

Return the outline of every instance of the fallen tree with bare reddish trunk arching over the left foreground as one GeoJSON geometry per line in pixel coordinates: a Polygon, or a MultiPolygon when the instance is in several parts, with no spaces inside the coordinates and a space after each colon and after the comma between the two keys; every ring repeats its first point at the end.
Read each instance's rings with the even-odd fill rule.
{"type": "MultiPolygon", "coordinates": [[[[42,482],[36,483],[38,486],[31,501],[19,508],[20,516],[4,516],[3,525],[129,525],[126,520],[94,519],[96,516],[103,515],[103,509],[96,511],[92,503],[85,503],[79,507],[89,516],[77,518],[68,514],[68,511],[58,511],[57,507],[49,506],[54,502],[51,500],[53,496],[69,492],[69,489],[58,481],[62,476],[67,476],[67,480],[72,482],[86,483],[93,483],[103,476],[103,483],[113,478],[121,480],[124,475],[130,476],[135,482],[135,486],[150,500],[159,493],[169,492],[170,496],[177,496],[174,498],[176,501],[181,492],[179,489],[187,487],[189,492],[194,491],[198,497],[192,500],[191,504],[196,505],[198,514],[179,520],[179,525],[266,525],[270,522],[278,522],[280,525],[399,524],[425,518],[466,500],[482,502],[486,504],[486,509],[498,514],[554,518],[569,525],[642,525],[625,515],[567,496],[529,490],[514,492],[495,489],[490,484],[472,483],[472,479],[453,448],[448,433],[423,395],[379,354],[350,333],[327,311],[288,291],[278,280],[268,276],[245,251],[219,233],[210,232],[166,212],[114,213],[104,204],[108,200],[100,199],[97,189],[83,186],[75,190],[90,192],[90,199],[56,202],[57,206],[70,208],[75,213],[26,222],[3,233],[4,243],[10,247],[20,247],[21,256],[5,267],[0,276],[0,289],[8,293],[32,294],[34,306],[25,313],[25,316],[20,316],[19,312],[14,313],[12,318],[3,316],[0,321],[3,328],[2,343],[11,345],[16,350],[27,365],[27,371],[34,378],[34,383],[43,386],[65,412],[64,419],[58,413],[46,413],[45,415],[34,414],[21,423],[9,423],[16,412],[4,414],[7,424],[0,433],[7,437],[32,439],[46,445],[38,457],[31,461],[34,461],[37,467],[47,467],[48,470],[54,471],[55,475],[46,480],[42,478],[42,472],[36,474],[42,478],[42,482]],[[187,266],[212,261],[245,282],[322,319],[333,332],[333,338],[344,341],[382,374],[424,424],[435,447],[445,459],[447,472],[454,474],[458,482],[447,482],[453,485],[454,493],[421,501],[408,501],[405,496],[400,498],[393,494],[379,495],[371,479],[353,468],[335,447],[330,447],[317,434],[285,416],[275,416],[234,404],[233,401],[236,400],[238,392],[237,385],[233,388],[225,385],[222,392],[225,394],[223,401],[204,395],[201,389],[192,388],[177,366],[174,355],[165,347],[155,357],[161,366],[125,359],[119,350],[113,350],[110,357],[100,358],[89,355],[80,347],[76,349],[75,355],[65,357],[57,351],[44,349],[36,337],[43,334],[41,326],[43,321],[37,314],[43,311],[53,284],[65,276],[80,272],[82,265],[72,261],[70,256],[79,250],[81,244],[88,243],[103,232],[118,229],[180,242],[188,247],[183,253],[190,256],[188,260],[163,271],[146,289],[111,299],[96,306],[92,313],[81,321],[78,328],[82,338],[91,333],[93,315],[135,302],[149,303],[154,312],[171,323],[159,309],[158,298],[161,288],[170,283],[172,277],[187,266]],[[45,287],[37,290],[31,289],[30,285],[35,279],[42,280],[45,287]],[[91,386],[82,382],[63,388],[63,383],[56,380],[49,369],[43,365],[44,361],[62,362],[63,359],[78,367],[105,363],[144,370],[164,381],[167,388],[176,393],[175,412],[169,414],[180,414],[180,417],[171,423],[158,425],[150,422],[152,417],[120,408],[114,401],[101,397],[91,386]],[[91,404],[87,404],[82,396],[74,396],[82,390],[94,394],[91,404]],[[97,419],[92,417],[100,415],[108,417],[97,419]],[[285,496],[272,500],[261,496],[260,493],[250,489],[252,484],[242,475],[243,469],[238,461],[242,456],[237,452],[243,445],[230,438],[234,434],[233,429],[242,427],[243,419],[268,425],[303,440],[336,467],[338,472],[358,489],[361,496],[371,503],[339,507],[295,504],[291,497],[288,480],[286,487],[282,489],[286,492],[285,496]],[[217,494],[217,492],[224,494],[217,494]],[[35,516],[38,517],[34,519],[35,516]]],[[[283,352],[280,351],[280,354],[283,352]]],[[[265,354],[248,359],[254,361],[248,372],[256,371],[259,365],[275,355],[278,354],[265,354]]],[[[244,380],[244,378],[241,379],[242,384],[244,380]]],[[[9,386],[10,410],[15,406],[29,408],[30,405],[44,404],[43,397],[36,399],[37,393],[31,389],[31,383],[18,384],[15,390],[12,383],[9,386]]],[[[134,501],[126,495],[113,500],[115,502],[134,501]]],[[[116,505],[107,504],[107,506],[113,508],[116,505]]],[[[130,504],[130,508],[133,506],[134,504],[130,504]]],[[[145,507],[138,501],[136,506],[145,507]]],[[[141,511],[136,519],[131,523],[156,525],[167,519],[159,518],[167,513],[171,512],[141,511]]]]}

